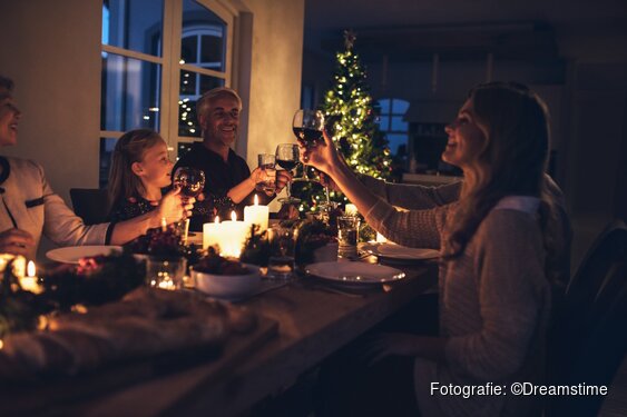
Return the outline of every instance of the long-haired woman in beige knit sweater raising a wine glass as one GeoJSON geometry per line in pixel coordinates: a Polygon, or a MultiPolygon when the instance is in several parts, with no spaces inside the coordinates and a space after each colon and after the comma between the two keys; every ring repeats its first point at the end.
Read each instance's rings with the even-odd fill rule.
{"type": "Polygon", "coordinates": [[[383,334],[361,346],[370,364],[414,359],[401,364],[404,371],[392,379],[372,380],[390,386],[408,375],[403,380],[413,380],[414,395],[408,389],[386,393],[384,386],[373,390],[363,385],[366,378],[355,385],[340,381],[337,389],[327,378],[324,395],[342,396],[327,401],[331,415],[342,414],[346,398],[362,399],[349,409],[361,406],[371,414],[392,404],[411,410],[417,403],[422,416],[540,414],[540,397],[507,393],[464,398],[434,387],[542,381],[550,311],[546,270],[556,252],[546,229],[551,210],[541,192],[549,149],[546,107],[522,86],[482,85],[445,130],[442,159],[463,170],[464,182],[459,201],[428,210],[401,212],[374,196],[326,135],[323,145],[302,148],[303,161],[330,175],[374,229],[402,245],[440,248],[442,255],[440,335],[383,334]],[[346,387],[359,395],[351,396],[346,387]]]}

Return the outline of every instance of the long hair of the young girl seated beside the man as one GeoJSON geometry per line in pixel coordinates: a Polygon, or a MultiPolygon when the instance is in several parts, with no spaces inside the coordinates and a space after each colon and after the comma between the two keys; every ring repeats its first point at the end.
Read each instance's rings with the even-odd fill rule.
{"type": "Polygon", "coordinates": [[[120,200],[140,198],[145,193],[144,183],[131,167],[141,162],[146,150],[159,142],[164,139],[150,129],[129,130],[118,139],[109,171],[109,211],[120,200]]]}

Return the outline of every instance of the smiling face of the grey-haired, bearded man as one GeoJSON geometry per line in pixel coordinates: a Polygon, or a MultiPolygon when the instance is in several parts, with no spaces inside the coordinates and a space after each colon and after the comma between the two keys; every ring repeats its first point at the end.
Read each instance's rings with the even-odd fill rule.
{"type": "Polygon", "coordinates": [[[232,146],[239,127],[239,103],[228,96],[214,99],[200,116],[200,127],[205,141],[232,146]]]}

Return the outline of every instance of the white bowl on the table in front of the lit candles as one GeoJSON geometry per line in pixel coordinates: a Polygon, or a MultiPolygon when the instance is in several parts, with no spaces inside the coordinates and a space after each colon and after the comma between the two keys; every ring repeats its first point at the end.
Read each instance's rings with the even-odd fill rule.
{"type": "Polygon", "coordinates": [[[262,284],[259,267],[244,264],[251,274],[246,275],[215,275],[190,268],[192,279],[196,289],[212,297],[236,299],[253,295],[262,284]]]}

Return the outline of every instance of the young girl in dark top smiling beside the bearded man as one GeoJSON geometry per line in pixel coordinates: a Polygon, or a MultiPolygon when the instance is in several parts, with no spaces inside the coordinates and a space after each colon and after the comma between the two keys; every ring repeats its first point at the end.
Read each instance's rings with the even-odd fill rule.
{"type": "MultiPolygon", "coordinates": [[[[157,208],[161,198],[178,197],[178,190],[161,196],[172,185],[173,162],[165,140],[150,129],[136,129],[119,138],[109,172],[109,218],[124,221],[157,208]]],[[[188,201],[186,209],[190,209],[188,201]]]]}

